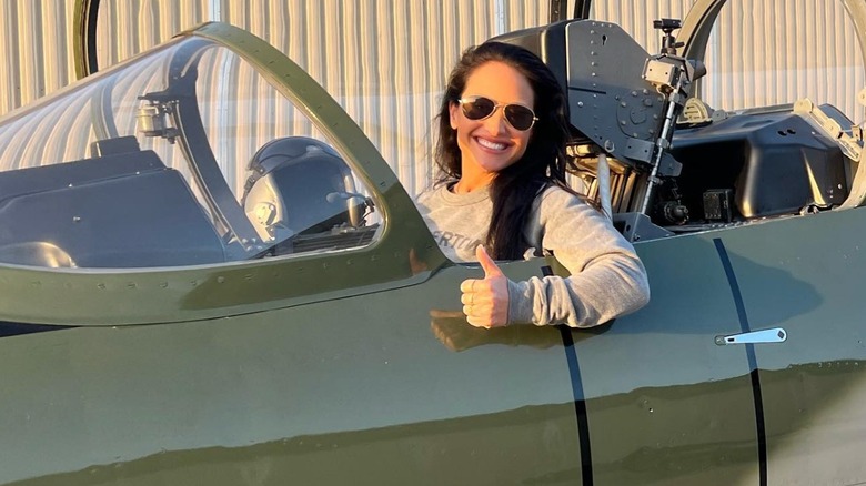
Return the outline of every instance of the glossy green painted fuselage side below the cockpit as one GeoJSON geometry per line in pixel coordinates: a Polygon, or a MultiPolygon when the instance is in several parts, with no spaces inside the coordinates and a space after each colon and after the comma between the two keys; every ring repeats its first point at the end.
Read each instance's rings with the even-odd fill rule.
{"type": "MultiPolygon", "coordinates": [[[[862,213],[638,244],[653,301],[570,332],[578,384],[560,330],[466,325],[456,284],[481,273],[469,265],[265,313],[6,337],[0,421],[16,441],[0,443],[2,480],[581,484],[575,397],[592,484],[761,484],[762,468],[769,484],[862,478],[866,336],[846,318],[849,295],[813,272],[856,279],[843,267],[866,263],[845,243],[863,235],[862,213]],[[834,243],[828,225],[849,237],[834,243]],[[805,230],[815,236],[773,257],[755,250],[805,230]],[[717,242],[753,328],[788,332],[784,344],[754,345],[758,389],[748,348],[715,343],[741,328],[717,242]],[[818,246],[818,263],[803,257],[818,246]]],[[[546,263],[504,270],[520,279],[546,263]]]]}

